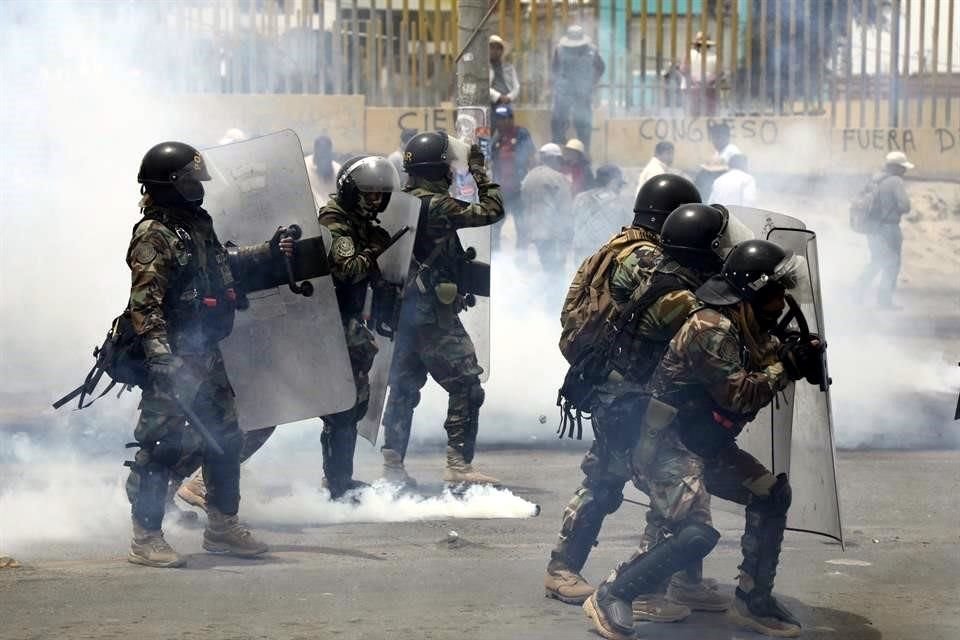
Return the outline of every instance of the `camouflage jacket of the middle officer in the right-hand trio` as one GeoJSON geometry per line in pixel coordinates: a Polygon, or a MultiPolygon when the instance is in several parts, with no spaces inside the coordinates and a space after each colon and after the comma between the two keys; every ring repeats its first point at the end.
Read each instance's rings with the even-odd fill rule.
{"type": "Polygon", "coordinates": [[[693,291],[703,283],[699,274],[664,258],[646,284],[637,287],[631,301],[656,296],[632,315],[619,334],[614,350],[614,368],[629,379],[643,384],[650,378],[670,340],[687,317],[702,303],[693,291]],[[657,295],[662,291],[661,295],[657,295]]]}

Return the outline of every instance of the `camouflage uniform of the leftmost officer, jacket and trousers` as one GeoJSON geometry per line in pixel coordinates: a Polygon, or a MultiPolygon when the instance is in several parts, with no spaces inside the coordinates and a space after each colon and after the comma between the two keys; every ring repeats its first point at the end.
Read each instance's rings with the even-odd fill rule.
{"type": "Polygon", "coordinates": [[[223,449],[222,455],[206,450],[173,398],[145,385],[134,433],[139,450],[127,463],[126,487],[137,524],[159,530],[171,474],[186,475],[200,464],[209,479],[210,503],[228,516],[237,513],[242,438],[217,348],[230,333],[235,312],[226,251],[203,209],[145,203],[127,251],[130,319],[137,335],[183,360],[184,375],[195,383],[192,408],[223,449]]]}

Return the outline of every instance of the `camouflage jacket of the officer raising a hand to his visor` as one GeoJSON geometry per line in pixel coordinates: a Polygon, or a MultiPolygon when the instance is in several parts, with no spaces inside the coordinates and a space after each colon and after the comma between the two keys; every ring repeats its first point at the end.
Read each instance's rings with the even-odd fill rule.
{"type": "Polygon", "coordinates": [[[404,189],[421,200],[428,199],[426,215],[421,217],[414,243],[414,264],[411,272],[418,270],[434,255],[428,268],[423,269],[420,283],[422,289],[416,296],[417,322],[438,321],[438,312],[455,313],[454,304],[443,304],[435,294],[435,287],[443,283],[456,283],[464,260],[464,248],[457,229],[485,227],[503,219],[503,195],[500,187],[490,182],[486,175],[477,180],[479,202],[467,203],[455,200],[447,192],[445,182],[431,182],[411,176],[404,189]],[[436,252],[436,253],[434,253],[436,252]]]}

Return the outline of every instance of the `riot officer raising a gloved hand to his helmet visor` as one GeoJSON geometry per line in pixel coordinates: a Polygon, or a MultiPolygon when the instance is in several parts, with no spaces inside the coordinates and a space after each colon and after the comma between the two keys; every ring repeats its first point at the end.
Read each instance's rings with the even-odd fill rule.
{"type": "Polygon", "coordinates": [[[409,479],[403,468],[413,411],[427,374],[449,394],[447,465],[450,483],[495,483],[472,466],[477,440],[483,370],[473,341],[458,315],[466,294],[458,274],[467,259],[457,229],[482,227],[504,216],[500,187],[490,181],[479,147],[469,149],[444,132],[421,133],[404,149],[406,192],[423,203],[414,243],[413,282],[403,304],[396,351],[390,371],[390,396],[383,416],[386,430],[384,471],[388,478],[409,479]],[[466,203],[449,195],[452,165],[466,163],[477,183],[479,201],[466,203]]]}

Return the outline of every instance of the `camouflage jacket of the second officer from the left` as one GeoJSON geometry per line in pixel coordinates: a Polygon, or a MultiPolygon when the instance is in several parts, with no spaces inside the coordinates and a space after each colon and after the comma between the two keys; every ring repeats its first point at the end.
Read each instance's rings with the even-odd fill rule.
{"type": "Polygon", "coordinates": [[[330,231],[329,262],[344,322],[363,312],[367,287],[379,275],[376,256],[390,242],[390,234],[374,221],[343,209],[331,198],[317,214],[330,231]]]}

